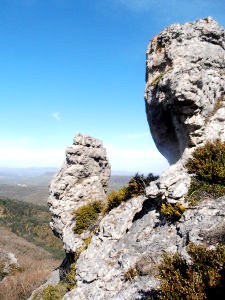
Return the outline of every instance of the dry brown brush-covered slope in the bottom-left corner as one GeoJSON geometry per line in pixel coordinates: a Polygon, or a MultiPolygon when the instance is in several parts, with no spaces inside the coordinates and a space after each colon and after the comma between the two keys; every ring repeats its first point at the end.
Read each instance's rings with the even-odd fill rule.
{"type": "Polygon", "coordinates": [[[33,290],[43,284],[51,271],[61,263],[43,248],[3,227],[0,227],[0,245],[5,251],[13,249],[19,263],[19,267],[10,270],[10,274],[0,283],[1,300],[28,299],[33,290]]]}

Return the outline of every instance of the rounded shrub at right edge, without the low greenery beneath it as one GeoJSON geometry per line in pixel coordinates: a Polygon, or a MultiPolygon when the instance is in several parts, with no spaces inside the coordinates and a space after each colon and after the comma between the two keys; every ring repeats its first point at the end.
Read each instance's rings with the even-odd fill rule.
{"type": "Polygon", "coordinates": [[[186,167],[196,178],[212,184],[225,184],[225,143],[207,142],[197,148],[186,167]]]}

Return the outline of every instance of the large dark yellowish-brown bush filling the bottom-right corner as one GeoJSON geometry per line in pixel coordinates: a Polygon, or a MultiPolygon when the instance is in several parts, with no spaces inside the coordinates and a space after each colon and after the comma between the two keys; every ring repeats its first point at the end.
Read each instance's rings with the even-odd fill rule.
{"type": "Polygon", "coordinates": [[[179,255],[164,254],[159,266],[161,287],[159,299],[224,299],[225,247],[216,249],[190,244],[188,265],[179,255]]]}

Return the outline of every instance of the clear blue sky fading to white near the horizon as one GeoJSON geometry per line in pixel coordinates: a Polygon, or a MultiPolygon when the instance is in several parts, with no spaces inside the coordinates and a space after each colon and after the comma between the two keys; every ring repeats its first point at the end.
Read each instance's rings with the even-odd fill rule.
{"type": "Polygon", "coordinates": [[[0,0],[0,167],[60,167],[75,133],[114,173],[160,174],[144,105],[149,40],[224,0],[0,0]]]}

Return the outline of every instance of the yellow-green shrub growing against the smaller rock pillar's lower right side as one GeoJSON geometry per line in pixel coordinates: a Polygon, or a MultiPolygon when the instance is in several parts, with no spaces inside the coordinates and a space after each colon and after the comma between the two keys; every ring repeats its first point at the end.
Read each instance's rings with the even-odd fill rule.
{"type": "Polygon", "coordinates": [[[81,234],[85,230],[93,230],[100,213],[103,210],[101,201],[93,201],[73,211],[76,217],[74,233],[81,234]]]}

